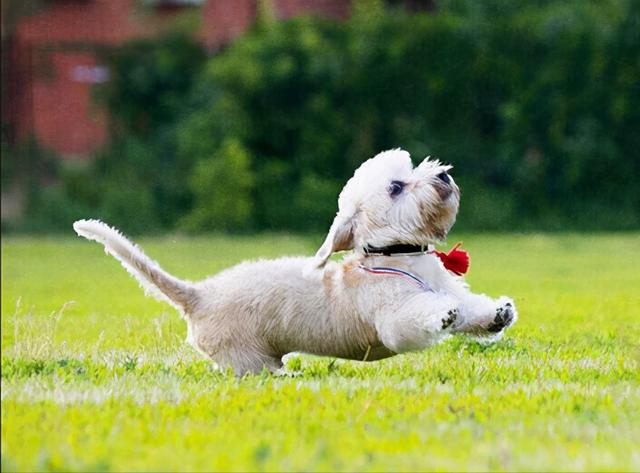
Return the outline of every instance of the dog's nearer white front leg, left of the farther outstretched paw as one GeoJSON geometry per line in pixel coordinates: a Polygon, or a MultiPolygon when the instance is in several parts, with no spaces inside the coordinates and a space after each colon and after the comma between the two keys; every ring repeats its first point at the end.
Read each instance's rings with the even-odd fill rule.
{"type": "Polygon", "coordinates": [[[440,341],[458,318],[459,301],[447,294],[425,292],[399,304],[386,305],[376,317],[382,343],[402,353],[440,341]]]}

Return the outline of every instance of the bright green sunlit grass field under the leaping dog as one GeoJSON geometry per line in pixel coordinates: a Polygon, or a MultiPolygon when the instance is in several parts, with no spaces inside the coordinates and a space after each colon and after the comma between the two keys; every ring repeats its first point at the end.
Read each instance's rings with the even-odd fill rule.
{"type": "MultiPolygon", "coordinates": [[[[472,288],[518,304],[501,342],[237,379],[99,245],[5,237],[2,469],[640,470],[640,235],[464,240],[472,288]]],[[[197,279],[320,241],[140,243],[197,279]]]]}

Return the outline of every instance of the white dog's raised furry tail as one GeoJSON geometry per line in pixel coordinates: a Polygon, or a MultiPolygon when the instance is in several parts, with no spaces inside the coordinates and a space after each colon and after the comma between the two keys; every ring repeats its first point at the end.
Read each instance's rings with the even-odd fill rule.
{"type": "Polygon", "coordinates": [[[138,280],[145,293],[168,302],[183,312],[188,312],[194,304],[196,294],[190,283],[164,271],[118,230],[99,220],[78,220],[73,224],[73,229],[88,240],[102,243],[105,252],[120,260],[122,266],[138,280]]]}

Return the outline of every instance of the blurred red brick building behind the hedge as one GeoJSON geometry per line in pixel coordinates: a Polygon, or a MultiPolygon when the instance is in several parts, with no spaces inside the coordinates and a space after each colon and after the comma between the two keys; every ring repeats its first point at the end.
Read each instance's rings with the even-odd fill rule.
{"type": "MultiPolygon", "coordinates": [[[[3,0],[3,139],[28,136],[66,158],[108,137],[93,84],[109,80],[98,52],[160,33],[181,13],[200,16],[194,34],[212,53],[256,19],[259,0],[3,0]]],[[[343,19],[350,0],[269,0],[277,19],[304,13],[343,19]]]]}

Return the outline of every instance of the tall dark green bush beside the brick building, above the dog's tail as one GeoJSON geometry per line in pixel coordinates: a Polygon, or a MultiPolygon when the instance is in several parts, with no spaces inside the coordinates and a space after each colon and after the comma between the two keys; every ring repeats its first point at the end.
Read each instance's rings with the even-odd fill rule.
{"type": "Polygon", "coordinates": [[[107,53],[112,79],[95,91],[109,110],[112,139],[94,168],[98,216],[141,232],[175,225],[191,206],[187,180],[195,158],[177,152],[176,124],[189,111],[205,59],[180,32],[107,53]]]}

